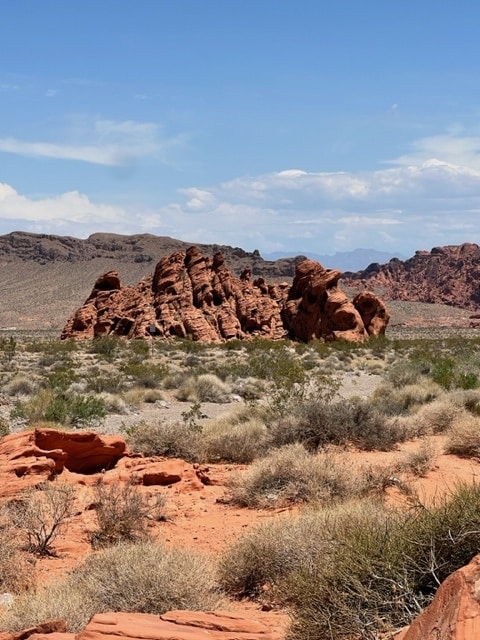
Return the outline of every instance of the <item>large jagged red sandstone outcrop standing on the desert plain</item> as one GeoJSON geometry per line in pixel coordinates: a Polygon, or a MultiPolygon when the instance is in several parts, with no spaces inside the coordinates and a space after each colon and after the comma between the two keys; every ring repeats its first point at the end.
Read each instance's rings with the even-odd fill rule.
{"type": "Polygon", "coordinates": [[[252,281],[248,270],[236,278],[220,253],[210,259],[190,247],[162,258],[136,286],[123,287],[115,271],[98,278],[61,337],[147,338],[153,332],[205,342],[254,336],[361,341],[384,333],[389,314],[383,302],[368,292],[350,302],[340,276],[304,260],[291,287],[252,281]]]}

